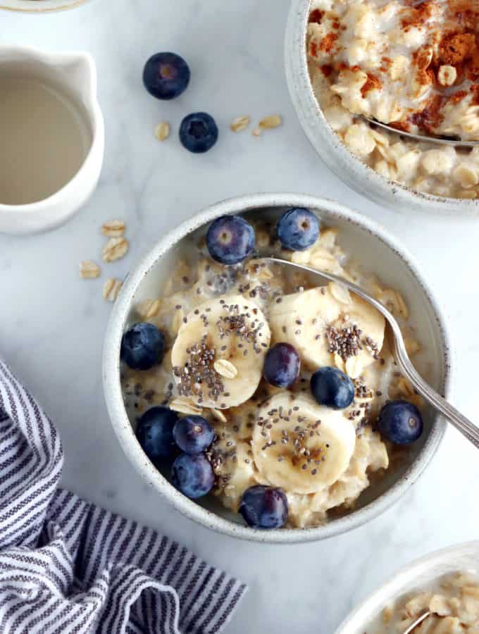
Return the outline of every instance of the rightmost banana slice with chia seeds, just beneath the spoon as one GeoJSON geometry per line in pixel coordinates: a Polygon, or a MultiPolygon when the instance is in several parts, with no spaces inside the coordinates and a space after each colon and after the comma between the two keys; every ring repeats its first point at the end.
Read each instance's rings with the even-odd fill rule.
{"type": "Polygon", "coordinates": [[[311,370],[336,364],[356,378],[382,348],[384,317],[343,287],[331,283],[278,299],[270,305],[273,342],[292,344],[311,370]]]}

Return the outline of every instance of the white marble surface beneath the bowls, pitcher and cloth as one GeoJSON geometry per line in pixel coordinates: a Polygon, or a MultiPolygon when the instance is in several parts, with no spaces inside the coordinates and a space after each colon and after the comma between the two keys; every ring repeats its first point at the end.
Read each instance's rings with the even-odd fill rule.
{"type": "MultiPolygon", "coordinates": [[[[0,354],[41,400],[63,437],[66,487],[176,537],[227,568],[250,592],[227,630],[331,634],[354,604],[395,570],[432,549],[479,536],[479,455],[454,430],[420,482],[393,509],[328,542],[251,545],[194,526],[154,495],[125,460],[108,422],[101,346],[110,306],[102,280],[82,281],[77,263],[98,258],[99,225],[127,220],[132,248],[107,271],[125,274],[179,220],[234,194],[290,190],[354,206],[402,238],[437,288],[456,343],[456,404],[478,415],[477,218],[399,215],[340,182],[306,141],[287,94],[282,41],[287,0],[96,0],[75,11],[31,17],[0,13],[0,41],[91,51],[106,118],[100,185],[63,228],[0,236],[0,354]],[[177,101],[142,88],[147,57],[171,49],[192,67],[177,101]],[[210,111],[222,136],[205,156],[175,135],[159,144],[158,120],[173,128],[189,111],[210,111]],[[280,112],[285,125],[260,139],[232,135],[232,118],[280,112]]],[[[107,273],[105,271],[105,273],[107,273]]]]}

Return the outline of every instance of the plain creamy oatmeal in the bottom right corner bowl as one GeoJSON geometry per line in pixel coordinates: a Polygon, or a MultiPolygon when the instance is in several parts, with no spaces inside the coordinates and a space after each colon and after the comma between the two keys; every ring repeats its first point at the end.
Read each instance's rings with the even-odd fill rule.
{"type": "Polygon", "coordinates": [[[412,592],[388,606],[380,623],[367,634],[402,634],[423,614],[428,617],[414,634],[478,634],[479,583],[471,573],[453,573],[421,592],[412,592]]]}

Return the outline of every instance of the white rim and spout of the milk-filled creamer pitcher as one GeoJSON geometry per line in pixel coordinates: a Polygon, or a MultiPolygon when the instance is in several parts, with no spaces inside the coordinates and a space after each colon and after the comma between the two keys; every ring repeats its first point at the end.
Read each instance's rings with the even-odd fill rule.
{"type": "Polygon", "coordinates": [[[85,51],[47,53],[46,51],[36,49],[33,46],[10,46],[6,44],[0,45],[0,51],[1,50],[8,50],[12,51],[13,54],[18,54],[19,56],[30,57],[34,61],[38,61],[39,63],[45,64],[46,66],[51,66],[52,68],[55,68],[55,66],[58,65],[67,64],[70,61],[73,62],[81,60],[87,65],[89,71],[90,99],[88,103],[85,104],[85,108],[87,108],[90,117],[90,123],[92,125],[92,144],[89,147],[87,156],[85,156],[85,159],[83,159],[83,163],[80,169],[73,176],[73,178],[66,183],[66,185],[63,185],[61,189],[58,189],[57,192],[54,192],[54,194],[51,194],[49,197],[46,197],[37,202],[23,205],[0,204],[0,214],[5,211],[8,211],[8,213],[11,213],[11,211],[15,211],[15,213],[22,213],[24,214],[24,216],[36,216],[40,211],[48,209],[50,206],[61,202],[62,199],[67,199],[70,195],[70,191],[75,191],[77,183],[82,181],[83,175],[89,169],[90,159],[92,159],[92,156],[97,154],[99,148],[103,147],[104,145],[105,124],[103,114],[101,113],[100,105],[97,99],[97,67],[95,66],[93,57],[89,53],[85,53],[85,51]]]}

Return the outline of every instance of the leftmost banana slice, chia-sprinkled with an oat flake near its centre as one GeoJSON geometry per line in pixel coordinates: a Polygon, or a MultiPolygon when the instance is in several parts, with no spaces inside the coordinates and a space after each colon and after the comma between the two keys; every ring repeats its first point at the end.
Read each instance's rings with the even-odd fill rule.
{"type": "Polygon", "coordinates": [[[244,403],[259,385],[270,338],[263,312],[242,295],[200,304],[186,316],[173,344],[178,393],[201,407],[244,403]]]}

